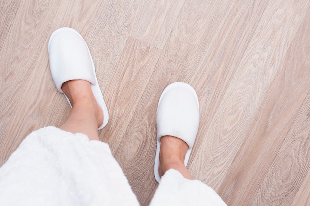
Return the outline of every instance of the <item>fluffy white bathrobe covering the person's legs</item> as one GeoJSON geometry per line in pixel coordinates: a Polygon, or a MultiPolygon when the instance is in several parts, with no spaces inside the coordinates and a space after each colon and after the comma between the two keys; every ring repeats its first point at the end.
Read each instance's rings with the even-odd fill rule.
{"type": "MultiPolygon", "coordinates": [[[[169,170],[150,206],[225,206],[198,180],[169,170]]],[[[139,206],[108,144],[56,127],[32,132],[0,168],[0,206],[139,206]]]]}

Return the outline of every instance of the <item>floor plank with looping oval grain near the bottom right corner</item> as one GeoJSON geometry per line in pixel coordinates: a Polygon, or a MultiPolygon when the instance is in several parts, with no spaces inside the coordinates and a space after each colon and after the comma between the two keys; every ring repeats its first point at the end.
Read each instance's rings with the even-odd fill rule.
{"type": "MultiPolygon", "coordinates": [[[[285,140],[260,184],[252,206],[290,206],[302,183],[307,181],[305,176],[310,171],[309,114],[310,92],[289,132],[284,136],[285,140]]],[[[307,187],[302,189],[307,193],[307,187]]],[[[303,198],[304,201],[307,201],[306,197],[303,198]]]]}

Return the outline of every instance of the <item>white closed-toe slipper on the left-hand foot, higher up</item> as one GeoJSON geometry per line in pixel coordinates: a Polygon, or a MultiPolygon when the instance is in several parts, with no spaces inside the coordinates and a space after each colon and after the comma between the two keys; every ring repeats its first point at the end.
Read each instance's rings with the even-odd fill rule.
{"type": "MultiPolygon", "coordinates": [[[[109,114],[97,81],[91,53],[83,37],[72,28],[57,29],[50,37],[48,51],[52,78],[58,91],[63,93],[61,86],[69,80],[87,80],[91,83],[91,89],[104,117],[98,130],[103,129],[108,123],[109,114]]],[[[65,97],[71,106],[68,97],[65,97]]]]}

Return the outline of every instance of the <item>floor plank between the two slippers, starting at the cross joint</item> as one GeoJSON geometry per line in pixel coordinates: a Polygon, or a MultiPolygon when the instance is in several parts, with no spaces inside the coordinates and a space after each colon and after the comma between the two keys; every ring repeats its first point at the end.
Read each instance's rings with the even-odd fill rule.
{"type": "Polygon", "coordinates": [[[124,130],[118,129],[119,125],[128,127],[135,108],[140,103],[141,96],[144,95],[146,82],[151,78],[158,53],[158,49],[133,37],[129,37],[126,42],[113,78],[107,86],[109,89],[104,93],[104,96],[109,97],[107,106],[110,111],[110,123],[107,125],[108,129],[102,131],[101,137],[105,142],[109,140],[113,142],[112,150],[119,147],[119,142],[115,141],[122,140],[113,137],[124,135],[124,130]]]}

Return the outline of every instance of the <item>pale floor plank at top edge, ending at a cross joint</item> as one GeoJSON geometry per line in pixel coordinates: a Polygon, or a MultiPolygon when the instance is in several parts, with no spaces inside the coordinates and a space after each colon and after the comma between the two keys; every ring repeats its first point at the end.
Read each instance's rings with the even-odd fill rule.
{"type": "Polygon", "coordinates": [[[142,1],[131,36],[162,49],[185,0],[142,1]]]}

